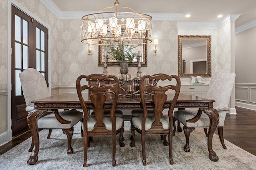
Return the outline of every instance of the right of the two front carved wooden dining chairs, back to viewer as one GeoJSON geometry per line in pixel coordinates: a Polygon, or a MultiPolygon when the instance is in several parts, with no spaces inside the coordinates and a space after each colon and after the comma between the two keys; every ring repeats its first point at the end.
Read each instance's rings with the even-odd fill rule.
{"type": "Polygon", "coordinates": [[[142,102],[143,115],[135,116],[131,119],[131,133],[132,133],[132,142],[130,143],[131,147],[135,145],[135,130],[141,134],[142,137],[142,163],[146,165],[146,149],[145,149],[145,136],[146,135],[169,135],[169,158],[170,164],[173,164],[172,159],[172,122],[173,122],[173,109],[178,100],[180,93],[180,78],[176,75],[167,75],[167,74],[154,74],[152,76],[144,75],[140,81],[140,98],[142,102]],[[145,78],[149,80],[162,80],[167,82],[167,85],[164,86],[152,86],[152,84],[144,84],[143,81],[145,78]],[[154,103],[154,116],[148,116],[147,101],[145,100],[144,92],[147,90],[152,90],[152,101],[154,103]],[[168,90],[173,90],[174,98],[172,103],[169,106],[168,116],[163,116],[162,111],[164,110],[163,106],[167,100],[166,92],[168,90]]]}

